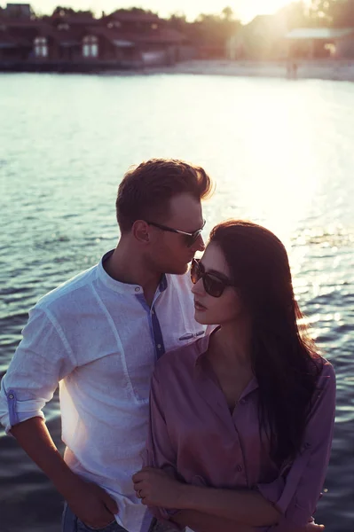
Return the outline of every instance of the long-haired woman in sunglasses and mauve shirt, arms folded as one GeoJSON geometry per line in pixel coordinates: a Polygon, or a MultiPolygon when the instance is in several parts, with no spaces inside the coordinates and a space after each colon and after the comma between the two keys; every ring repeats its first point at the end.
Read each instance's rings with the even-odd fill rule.
{"type": "Polygon", "coordinates": [[[221,223],[191,276],[196,320],[219,326],[156,365],[138,497],[199,532],[316,530],[335,378],[307,334],[285,247],[256,223],[221,223]]]}

